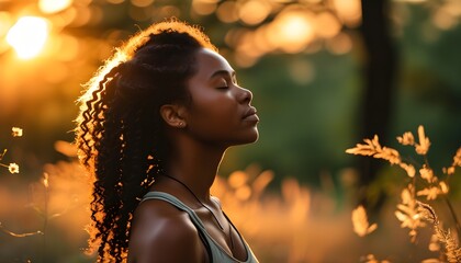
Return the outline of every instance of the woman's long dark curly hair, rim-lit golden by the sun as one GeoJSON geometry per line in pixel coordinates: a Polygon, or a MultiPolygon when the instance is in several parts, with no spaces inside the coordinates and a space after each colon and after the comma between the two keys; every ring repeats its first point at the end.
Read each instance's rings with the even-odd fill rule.
{"type": "Polygon", "coordinates": [[[116,48],[86,84],[76,145],[93,180],[89,243],[98,262],[126,259],[133,213],[168,158],[159,108],[190,101],[185,82],[202,47],[217,52],[200,27],[156,23],[116,48]]]}

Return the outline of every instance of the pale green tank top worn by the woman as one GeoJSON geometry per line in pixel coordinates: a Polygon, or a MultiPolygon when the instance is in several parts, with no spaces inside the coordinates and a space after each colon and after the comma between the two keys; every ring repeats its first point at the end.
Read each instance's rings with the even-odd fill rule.
{"type": "Polygon", "coordinates": [[[143,197],[143,201],[146,201],[146,199],[165,201],[165,202],[168,202],[171,205],[176,206],[180,210],[183,210],[183,211],[188,213],[189,217],[191,218],[192,224],[196,227],[196,230],[199,231],[200,238],[202,239],[206,250],[209,251],[211,262],[214,262],[214,263],[234,263],[234,262],[258,263],[258,260],[256,259],[251,249],[248,247],[245,239],[240,236],[238,230],[234,227],[234,225],[231,222],[231,220],[227,217],[226,218],[227,218],[227,220],[229,220],[231,226],[234,227],[234,229],[237,231],[239,238],[241,239],[241,241],[245,245],[245,250],[247,252],[247,260],[246,261],[239,261],[239,260],[235,259],[234,256],[229,255],[216,241],[214,241],[214,239],[210,236],[210,233],[206,232],[205,226],[203,225],[202,220],[200,220],[200,218],[195,214],[195,211],[192,210],[189,206],[184,205],[184,203],[179,201],[177,197],[175,197],[170,194],[164,193],[164,192],[148,192],[143,197]]]}

